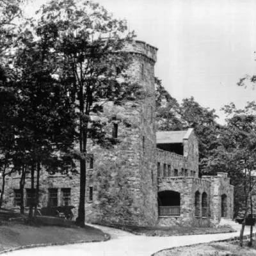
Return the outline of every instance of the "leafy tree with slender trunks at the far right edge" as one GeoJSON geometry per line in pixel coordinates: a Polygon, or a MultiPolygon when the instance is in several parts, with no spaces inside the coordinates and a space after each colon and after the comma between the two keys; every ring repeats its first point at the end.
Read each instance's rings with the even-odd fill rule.
{"type": "MultiPolygon", "coordinates": [[[[227,125],[223,127],[216,141],[218,147],[212,150],[207,169],[222,170],[230,176],[235,186],[235,214],[239,211],[253,213],[252,195],[256,180],[253,172],[256,166],[256,109],[255,102],[248,102],[244,109],[236,109],[234,104],[223,108],[228,115],[227,125]],[[250,206],[250,207],[249,207],[250,206]]],[[[244,223],[241,228],[240,246],[243,246],[244,223]]],[[[251,241],[252,245],[252,227],[251,241]]]]}

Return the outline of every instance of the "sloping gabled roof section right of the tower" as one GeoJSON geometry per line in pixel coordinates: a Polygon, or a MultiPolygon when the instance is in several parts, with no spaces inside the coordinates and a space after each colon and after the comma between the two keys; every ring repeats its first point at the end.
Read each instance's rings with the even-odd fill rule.
{"type": "Polygon", "coordinates": [[[186,131],[169,131],[156,132],[157,144],[183,143],[183,140],[188,140],[193,128],[186,131]]]}

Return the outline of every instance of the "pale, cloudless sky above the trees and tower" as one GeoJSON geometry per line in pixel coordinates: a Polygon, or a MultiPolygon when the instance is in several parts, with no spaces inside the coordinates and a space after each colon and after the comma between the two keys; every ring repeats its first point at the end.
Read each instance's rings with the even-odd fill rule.
{"type": "MultiPolygon", "coordinates": [[[[30,0],[32,13],[47,0],[30,0]]],[[[252,86],[239,88],[244,74],[256,74],[256,1],[253,0],[99,0],[117,18],[129,21],[138,40],[159,51],[155,76],[172,97],[195,97],[220,109],[242,108],[256,100],[252,86]],[[254,72],[254,73],[253,73],[254,72]]],[[[223,113],[220,122],[224,120],[223,113]]]]}

